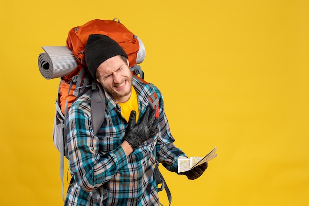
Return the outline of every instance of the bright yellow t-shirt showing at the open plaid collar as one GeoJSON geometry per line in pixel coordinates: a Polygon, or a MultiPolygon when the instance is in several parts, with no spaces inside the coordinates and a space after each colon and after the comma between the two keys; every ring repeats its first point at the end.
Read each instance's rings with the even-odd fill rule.
{"type": "Polygon", "coordinates": [[[139,112],[138,112],[137,94],[133,86],[130,99],[125,103],[118,103],[118,104],[121,107],[121,115],[124,117],[124,119],[126,119],[127,122],[129,122],[131,111],[136,111],[135,122],[137,122],[139,112]]]}

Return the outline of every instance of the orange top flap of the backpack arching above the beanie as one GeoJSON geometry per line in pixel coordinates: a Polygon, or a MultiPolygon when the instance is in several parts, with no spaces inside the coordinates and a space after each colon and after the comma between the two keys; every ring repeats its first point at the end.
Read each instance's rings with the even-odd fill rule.
{"type": "MultiPolygon", "coordinates": [[[[115,20],[115,19],[114,19],[115,20]]],[[[68,34],[67,46],[72,50],[77,61],[83,66],[85,62],[85,45],[90,34],[107,35],[115,40],[128,55],[130,67],[136,65],[139,51],[137,36],[130,32],[120,21],[94,19],[82,26],[73,27],[68,34]]]]}

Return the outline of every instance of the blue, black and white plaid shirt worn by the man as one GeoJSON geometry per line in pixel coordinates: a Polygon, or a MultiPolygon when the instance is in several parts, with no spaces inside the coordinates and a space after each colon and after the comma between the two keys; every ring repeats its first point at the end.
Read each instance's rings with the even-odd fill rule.
{"type": "Polygon", "coordinates": [[[94,136],[90,111],[91,91],[78,98],[71,105],[67,120],[69,162],[74,181],[69,185],[65,205],[94,206],[91,191],[101,185],[108,191],[104,205],[159,205],[154,174],[156,160],[169,171],[177,172],[177,158],[185,154],[174,146],[158,88],[144,84],[135,77],[133,87],[138,96],[140,117],[148,105],[147,97],[154,92],[158,95],[159,133],[126,157],[120,145],[127,121],[122,117],[119,105],[105,92],[105,120],[94,136]]]}

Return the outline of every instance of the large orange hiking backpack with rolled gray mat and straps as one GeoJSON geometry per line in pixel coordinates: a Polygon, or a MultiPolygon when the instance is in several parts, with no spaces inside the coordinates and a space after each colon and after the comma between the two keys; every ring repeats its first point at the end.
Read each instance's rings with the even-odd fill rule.
{"type": "MultiPolygon", "coordinates": [[[[55,120],[53,127],[53,141],[56,148],[60,151],[60,176],[62,181],[62,197],[64,200],[63,168],[64,156],[68,158],[67,141],[66,141],[66,117],[71,104],[89,89],[92,89],[91,95],[91,115],[94,134],[98,132],[104,121],[104,114],[96,112],[100,108],[105,108],[105,95],[96,82],[88,73],[84,59],[84,48],[90,34],[103,34],[115,40],[126,52],[129,60],[129,67],[132,73],[140,81],[146,83],[144,73],[137,64],[145,58],[145,48],[142,41],[130,32],[118,19],[99,20],[95,19],[87,22],[82,26],[72,28],[68,33],[66,47],[43,47],[46,53],[39,55],[38,64],[41,74],[46,79],[61,77],[56,100],[55,120]],[[117,21],[116,21],[117,20],[117,21]],[[58,52],[57,52],[58,50],[58,52]],[[62,55],[59,57],[59,55],[62,55]],[[60,60],[61,59],[61,60],[60,60]],[[59,62],[62,61],[60,64],[59,62]],[[55,64],[57,63],[58,64],[55,64]],[[52,70],[52,71],[48,71],[52,70]],[[60,72],[63,71],[63,72],[60,72]],[[48,73],[48,75],[46,74],[48,73]],[[50,74],[57,73],[57,74],[50,74]],[[59,74],[58,74],[59,73],[59,74]]],[[[151,105],[158,112],[158,98],[156,94],[150,97],[151,105]]],[[[105,111],[105,109],[103,110],[105,111]]],[[[158,162],[155,164],[155,176],[158,191],[166,190],[169,204],[171,204],[171,194],[166,182],[159,172],[158,162]]],[[[107,196],[106,191],[101,186],[93,190],[93,200],[102,205],[107,196]]]]}

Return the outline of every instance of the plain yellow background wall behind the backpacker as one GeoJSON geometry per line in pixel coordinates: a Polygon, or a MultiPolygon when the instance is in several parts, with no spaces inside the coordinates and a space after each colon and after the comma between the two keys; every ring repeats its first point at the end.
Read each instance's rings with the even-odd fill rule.
{"type": "Polygon", "coordinates": [[[59,79],[37,59],[72,27],[116,17],[145,44],[176,145],[218,147],[195,181],[161,168],[173,206],[309,206],[308,0],[1,0],[0,17],[0,205],[63,205],[59,79]]]}

